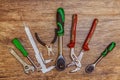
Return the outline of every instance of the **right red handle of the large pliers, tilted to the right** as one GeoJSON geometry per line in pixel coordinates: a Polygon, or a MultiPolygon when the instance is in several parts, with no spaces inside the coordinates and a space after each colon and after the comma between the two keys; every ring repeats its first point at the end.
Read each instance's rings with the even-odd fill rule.
{"type": "Polygon", "coordinates": [[[91,39],[94,31],[95,31],[97,23],[98,23],[98,19],[95,18],[94,21],[93,21],[93,23],[92,23],[91,29],[90,29],[90,31],[89,31],[86,39],[85,39],[85,42],[84,42],[84,44],[82,46],[82,49],[84,51],[88,51],[89,50],[88,44],[89,44],[89,41],[90,41],[90,39],[91,39]]]}

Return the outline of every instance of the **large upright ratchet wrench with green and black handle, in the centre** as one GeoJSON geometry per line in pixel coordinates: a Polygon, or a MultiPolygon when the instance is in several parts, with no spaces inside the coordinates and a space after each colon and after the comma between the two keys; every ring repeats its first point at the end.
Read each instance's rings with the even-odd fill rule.
{"type": "Polygon", "coordinates": [[[59,57],[56,61],[56,69],[62,71],[66,68],[65,58],[63,57],[63,35],[64,35],[65,14],[63,8],[57,9],[57,26],[58,26],[58,53],[59,57]]]}

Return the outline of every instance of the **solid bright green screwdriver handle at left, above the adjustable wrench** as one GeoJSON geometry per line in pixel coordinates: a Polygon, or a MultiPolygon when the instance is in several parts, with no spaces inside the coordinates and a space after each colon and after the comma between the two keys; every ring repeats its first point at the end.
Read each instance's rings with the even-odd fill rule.
{"type": "Polygon", "coordinates": [[[20,50],[20,52],[23,54],[23,56],[27,57],[28,56],[28,52],[25,50],[25,48],[23,47],[23,45],[21,44],[21,42],[19,41],[18,38],[14,38],[12,40],[12,43],[15,45],[15,47],[17,49],[20,50]]]}

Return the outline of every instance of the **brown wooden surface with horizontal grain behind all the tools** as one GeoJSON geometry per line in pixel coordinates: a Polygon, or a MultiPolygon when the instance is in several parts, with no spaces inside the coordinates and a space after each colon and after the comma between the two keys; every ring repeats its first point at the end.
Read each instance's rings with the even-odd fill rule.
{"type": "MultiPolygon", "coordinates": [[[[54,65],[58,56],[57,42],[54,45],[55,55],[50,57],[46,49],[37,41],[36,43],[45,59],[54,59],[48,65],[54,65]]],[[[0,0],[0,80],[120,80],[120,0],[0,0]],[[99,19],[89,44],[90,51],[85,52],[79,72],[69,73],[75,68],[70,67],[61,72],[54,69],[46,74],[34,72],[26,75],[8,48],[14,48],[21,58],[27,63],[29,61],[14,47],[11,40],[19,38],[34,62],[38,64],[25,34],[23,22],[29,25],[32,34],[38,32],[42,40],[49,44],[56,28],[58,7],[63,7],[65,10],[63,54],[67,63],[71,62],[70,49],[66,45],[70,40],[72,14],[78,14],[75,48],[77,55],[93,19],[99,19]],[[116,48],[97,65],[92,74],[85,73],[85,67],[94,62],[112,41],[116,42],[116,48]]]]}

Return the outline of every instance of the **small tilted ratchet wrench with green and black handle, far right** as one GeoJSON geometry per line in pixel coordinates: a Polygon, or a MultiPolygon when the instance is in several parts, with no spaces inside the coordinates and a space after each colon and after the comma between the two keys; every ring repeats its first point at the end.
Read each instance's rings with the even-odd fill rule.
{"type": "Polygon", "coordinates": [[[109,52],[111,52],[115,46],[116,46],[116,43],[111,42],[108,45],[108,47],[101,53],[99,58],[94,63],[92,63],[86,67],[86,69],[85,69],[86,73],[91,73],[95,69],[95,66],[98,64],[98,62],[100,62],[109,52]]]}

